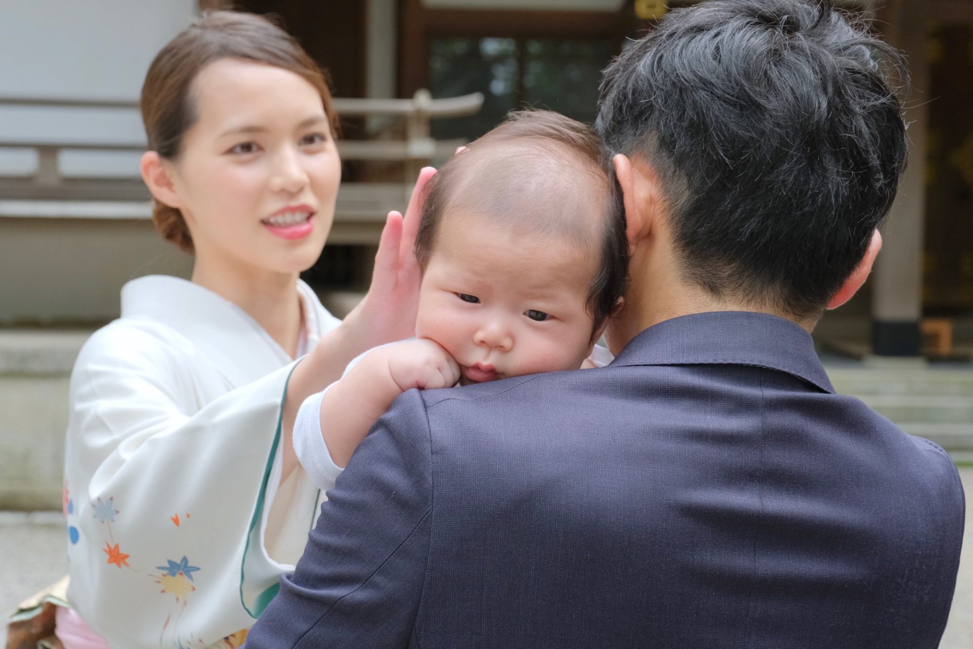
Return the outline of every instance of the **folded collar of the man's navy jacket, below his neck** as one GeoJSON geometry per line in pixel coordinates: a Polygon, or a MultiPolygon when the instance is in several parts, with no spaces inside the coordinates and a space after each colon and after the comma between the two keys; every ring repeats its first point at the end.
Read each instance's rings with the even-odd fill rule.
{"type": "Polygon", "coordinates": [[[811,334],[767,313],[716,311],[666,320],[633,338],[612,363],[625,365],[752,365],[835,391],[811,334]]]}

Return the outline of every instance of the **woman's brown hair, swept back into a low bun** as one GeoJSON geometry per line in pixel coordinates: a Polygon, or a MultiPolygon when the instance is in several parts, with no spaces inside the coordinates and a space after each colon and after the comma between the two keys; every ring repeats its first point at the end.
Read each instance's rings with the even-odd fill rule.
{"type": "MultiPolygon", "coordinates": [[[[221,58],[243,58],[289,70],[321,95],[324,112],[338,132],[338,116],[321,68],[290,35],[267,18],[236,12],[203,14],[162,48],[142,86],[142,122],[149,149],[166,160],[180,153],[183,135],[196,122],[193,81],[206,65],[221,58]]],[[[162,237],[193,252],[182,213],[154,201],[152,222],[162,237]]]]}

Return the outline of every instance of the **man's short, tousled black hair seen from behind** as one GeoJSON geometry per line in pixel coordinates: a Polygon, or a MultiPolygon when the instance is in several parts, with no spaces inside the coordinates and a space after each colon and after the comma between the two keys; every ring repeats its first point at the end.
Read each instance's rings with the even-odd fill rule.
{"type": "Polygon", "coordinates": [[[659,175],[685,276],[817,317],[862,260],[906,162],[902,56],[810,0],[675,10],[605,71],[595,128],[659,175]]]}

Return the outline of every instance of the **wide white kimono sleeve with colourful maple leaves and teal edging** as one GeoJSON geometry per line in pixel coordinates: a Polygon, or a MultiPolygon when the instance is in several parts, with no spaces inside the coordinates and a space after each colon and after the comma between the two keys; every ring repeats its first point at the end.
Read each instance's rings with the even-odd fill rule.
{"type": "MultiPolygon", "coordinates": [[[[194,372],[191,352],[109,326],[72,375],[68,596],[112,646],[211,644],[250,627],[292,569],[271,559],[264,524],[294,364],[230,389],[194,372]]],[[[289,514],[304,535],[307,486],[289,514]]]]}

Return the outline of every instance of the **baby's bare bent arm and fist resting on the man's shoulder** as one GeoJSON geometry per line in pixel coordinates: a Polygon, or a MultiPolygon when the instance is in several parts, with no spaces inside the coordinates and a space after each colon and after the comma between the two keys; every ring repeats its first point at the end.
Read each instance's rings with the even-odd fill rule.
{"type": "Polygon", "coordinates": [[[321,399],[321,430],[334,463],[343,467],[379,416],[408,389],[452,387],[459,366],[426,339],[380,347],[333,383],[321,399]]]}

